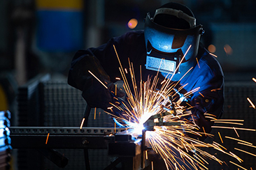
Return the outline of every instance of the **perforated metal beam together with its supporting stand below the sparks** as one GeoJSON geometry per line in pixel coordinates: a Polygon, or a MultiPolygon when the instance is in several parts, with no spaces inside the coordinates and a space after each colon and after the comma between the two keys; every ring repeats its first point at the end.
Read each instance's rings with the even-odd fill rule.
{"type": "Polygon", "coordinates": [[[55,149],[82,148],[107,149],[108,156],[118,157],[106,169],[119,163],[124,170],[145,168],[145,130],[141,136],[132,137],[125,128],[114,127],[10,127],[10,137],[13,148],[39,150],[58,167],[65,167],[69,159],[55,149]]]}

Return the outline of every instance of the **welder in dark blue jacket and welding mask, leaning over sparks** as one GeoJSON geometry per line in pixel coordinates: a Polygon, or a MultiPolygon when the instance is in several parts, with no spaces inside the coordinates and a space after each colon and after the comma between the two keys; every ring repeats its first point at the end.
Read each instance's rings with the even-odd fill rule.
{"type": "MultiPolygon", "coordinates": [[[[115,91],[116,77],[121,77],[116,49],[122,67],[129,68],[129,58],[135,77],[142,77],[143,81],[148,75],[155,76],[159,70],[159,82],[165,77],[172,77],[171,81],[178,82],[176,89],[185,85],[179,93],[199,88],[184,102],[184,105],[192,107],[193,117],[189,116],[187,120],[195,121],[199,131],[210,133],[213,121],[206,115],[214,118],[222,115],[224,75],[215,56],[201,44],[203,33],[203,26],[196,24],[189,8],[180,3],[166,3],[157,8],[154,16],[146,15],[143,31],[129,31],[99,47],[76,52],[68,83],[83,91],[87,105],[108,110],[111,107],[109,103],[113,102],[111,91],[115,91]],[[165,64],[161,64],[162,59],[165,64]],[[102,86],[88,70],[108,88],[102,86]]],[[[122,91],[116,94],[120,98],[123,95],[122,91]]]]}

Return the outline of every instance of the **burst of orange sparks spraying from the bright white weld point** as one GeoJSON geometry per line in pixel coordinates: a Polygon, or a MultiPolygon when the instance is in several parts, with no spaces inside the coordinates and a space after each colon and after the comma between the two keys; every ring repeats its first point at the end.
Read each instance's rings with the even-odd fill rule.
{"type": "MultiPolygon", "coordinates": [[[[113,45],[114,49],[115,46],[113,45]]],[[[191,47],[191,45],[190,45],[191,47]]],[[[187,52],[190,50],[190,47],[187,49],[187,52]]],[[[187,54],[185,52],[185,55],[187,54]]],[[[195,123],[194,118],[192,116],[192,112],[190,109],[193,107],[187,103],[189,107],[184,107],[180,105],[181,102],[185,98],[188,98],[189,95],[195,93],[199,90],[200,87],[194,88],[192,91],[188,91],[187,93],[183,94],[183,98],[180,97],[178,94],[179,91],[184,88],[187,84],[181,86],[178,89],[174,89],[178,83],[171,82],[171,79],[164,79],[163,82],[159,83],[158,73],[155,77],[148,76],[148,80],[143,82],[142,78],[140,82],[136,82],[136,77],[134,74],[134,67],[133,63],[129,61],[129,72],[125,68],[122,68],[122,64],[120,62],[118,52],[115,49],[115,54],[118,57],[118,61],[120,63],[120,73],[122,76],[122,81],[124,82],[124,89],[125,93],[127,94],[127,103],[123,102],[122,100],[118,100],[118,98],[114,98],[116,103],[120,105],[115,105],[110,103],[112,107],[108,107],[111,112],[105,111],[107,114],[113,116],[115,120],[125,126],[127,130],[127,134],[131,134],[134,137],[138,137],[142,133],[144,129],[143,123],[148,121],[151,116],[157,114],[164,114],[163,123],[173,123],[172,125],[162,125],[162,126],[154,126],[154,131],[147,131],[146,132],[146,139],[152,150],[155,150],[155,153],[158,153],[164,163],[166,164],[167,169],[208,169],[207,160],[215,160],[219,164],[226,164],[226,162],[218,159],[216,155],[211,155],[207,153],[205,150],[201,148],[213,148],[218,150],[220,153],[225,153],[230,157],[238,160],[239,162],[243,162],[240,157],[235,155],[234,153],[228,151],[224,146],[216,143],[213,141],[213,144],[205,143],[204,141],[200,141],[199,139],[192,138],[191,136],[203,137],[210,136],[213,137],[213,134],[207,134],[203,127],[203,132],[199,131],[199,126],[195,123]],[[131,77],[131,84],[129,86],[126,74],[130,74],[131,77]],[[160,87],[159,87],[160,84],[160,87]],[[173,102],[170,98],[177,99],[176,102],[173,102]],[[113,109],[118,109],[122,111],[123,114],[116,116],[113,114],[113,109]],[[173,109],[176,111],[173,114],[173,109]],[[166,114],[168,113],[168,114],[166,114]],[[188,117],[192,118],[192,121],[188,121],[188,117]],[[191,155],[192,154],[192,155],[191,155]]],[[[212,54],[213,55],[213,54],[212,54]]],[[[217,56],[216,56],[217,57],[217,56]]],[[[183,61],[181,59],[180,63],[183,61]]],[[[129,59],[128,59],[129,60],[129,59]]],[[[178,67],[180,65],[178,64],[178,67]]],[[[176,68],[176,70],[178,69],[176,68]]],[[[192,68],[190,68],[191,70],[192,68]]],[[[189,70],[189,71],[190,71],[189,70]]],[[[140,68],[141,71],[141,68],[140,68]]],[[[188,72],[189,72],[188,71],[188,72]]],[[[89,71],[90,72],[90,71],[89,71]]],[[[176,72],[176,71],[175,71],[176,72]]],[[[141,72],[140,72],[141,73],[141,72]]],[[[91,75],[92,72],[90,72],[91,75]]],[[[187,73],[186,73],[187,74],[187,73]]],[[[94,76],[94,75],[93,75],[94,76]]],[[[185,75],[184,75],[185,76],[185,75]]],[[[94,76],[95,77],[95,76],[94,76]]],[[[142,75],[141,75],[142,77],[142,75]]],[[[97,79],[97,77],[95,77],[97,79]]],[[[183,78],[183,77],[182,77],[183,78]]],[[[182,79],[181,78],[181,79],[182,79]]],[[[99,79],[97,79],[101,82],[99,79]]],[[[101,82],[101,84],[103,84],[101,82]]],[[[105,87],[106,85],[103,84],[105,87]]],[[[107,87],[106,87],[107,88],[107,87]]],[[[218,91],[221,88],[216,88],[211,91],[218,91]]],[[[201,94],[201,93],[200,93],[201,94]]],[[[203,95],[202,95],[203,96],[203,95]]],[[[215,115],[211,114],[204,114],[207,115],[207,118],[210,118],[211,121],[214,123],[226,123],[232,125],[243,125],[243,123],[236,123],[240,122],[241,120],[227,120],[227,119],[220,119],[218,120],[215,118],[215,115]]],[[[84,120],[83,120],[84,121],[84,120]]],[[[159,120],[157,120],[159,121],[159,120]]],[[[83,123],[81,123],[81,127],[83,123]]],[[[80,127],[80,128],[81,128],[80,127]]],[[[116,123],[115,123],[116,127],[116,123]]],[[[232,130],[250,130],[246,128],[239,128],[239,127],[223,127],[223,126],[212,126],[214,128],[222,128],[222,129],[232,129],[232,130]]],[[[218,132],[220,140],[222,141],[222,137],[218,132]]],[[[235,139],[232,137],[225,137],[227,139],[233,139],[236,141],[240,141],[242,144],[250,144],[246,141],[242,141],[240,139],[235,139]]],[[[223,144],[223,141],[222,141],[223,144]]],[[[253,144],[251,144],[253,145],[253,144]]],[[[148,158],[148,153],[145,153],[146,158],[148,158]]],[[[234,162],[231,162],[235,164],[234,162]]],[[[153,169],[153,162],[151,162],[152,169],[153,169]]],[[[236,164],[236,166],[239,166],[236,164]]],[[[243,168],[243,167],[241,167],[243,168]]]]}

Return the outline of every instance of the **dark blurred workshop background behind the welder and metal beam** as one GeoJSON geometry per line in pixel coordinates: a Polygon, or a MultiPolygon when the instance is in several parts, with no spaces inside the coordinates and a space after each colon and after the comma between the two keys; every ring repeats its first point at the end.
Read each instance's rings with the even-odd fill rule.
{"type": "MultiPolygon", "coordinates": [[[[73,54],[127,31],[143,29],[146,13],[152,15],[166,2],[169,1],[1,0],[0,110],[10,111],[10,126],[80,126],[86,102],[80,91],[66,83],[73,54]]],[[[256,103],[256,1],[176,2],[194,12],[197,24],[206,31],[201,42],[222,65],[224,118],[244,119],[246,127],[255,129],[256,111],[247,98],[256,103]]],[[[97,113],[100,118],[94,120],[90,116],[90,127],[113,127],[111,118],[100,109],[97,113]]],[[[223,133],[235,135],[233,131],[223,133]]],[[[241,139],[255,144],[255,132],[241,133],[241,139]]],[[[250,152],[256,153],[253,149],[250,152]]],[[[83,150],[60,151],[69,157],[66,169],[85,169],[83,150]]],[[[36,150],[13,148],[11,155],[11,169],[60,169],[36,150]]],[[[106,150],[90,150],[90,155],[94,169],[104,169],[111,159],[106,150]]],[[[243,166],[255,169],[256,157],[242,155],[243,166]]],[[[213,165],[218,169],[214,166],[218,164],[213,165]]]]}

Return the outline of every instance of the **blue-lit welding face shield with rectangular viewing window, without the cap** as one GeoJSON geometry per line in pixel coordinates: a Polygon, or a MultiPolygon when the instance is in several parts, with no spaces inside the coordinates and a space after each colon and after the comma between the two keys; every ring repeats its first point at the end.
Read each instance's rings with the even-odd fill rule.
{"type": "Polygon", "coordinates": [[[145,19],[145,44],[147,47],[146,68],[166,74],[176,74],[173,80],[182,77],[196,64],[195,57],[202,26],[192,29],[170,29],[152,22],[148,13],[145,19]],[[191,47],[190,47],[191,45],[191,47]],[[190,50],[187,52],[187,49],[190,50]],[[180,67],[178,64],[187,52],[180,67]],[[176,71],[176,72],[175,72],[176,71]]]}

